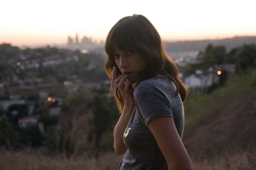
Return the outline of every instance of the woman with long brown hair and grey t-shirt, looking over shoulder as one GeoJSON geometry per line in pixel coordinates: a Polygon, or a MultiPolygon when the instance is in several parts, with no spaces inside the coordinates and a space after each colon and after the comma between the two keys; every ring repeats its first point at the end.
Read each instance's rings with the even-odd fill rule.
{"type": "Polygon", "coordinates": [[[120,19],[110,30],[105,70],[121,116],[114,149],[118,169],[191,169],[181,141],[187,91],[160,35],[143,15],[120,19]]]}

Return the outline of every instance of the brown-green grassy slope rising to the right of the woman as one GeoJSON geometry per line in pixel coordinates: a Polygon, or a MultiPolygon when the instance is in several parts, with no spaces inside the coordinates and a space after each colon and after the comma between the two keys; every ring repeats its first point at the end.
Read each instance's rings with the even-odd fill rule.
{"type": "Polygon", "coordinates": [[[223,168],[221,160],[226,159],[224,164],[234,169],[230,160],[238,154],[240,157],[234,159],[244,164],[236,162],[233,167],[256,168],[251,161],[255,159],[252,153],[256,144],[256,86],[251,85],[255,83],[256,72],[252,72],[233,76],[213,93],[184,103],[183,142],[196,165],[200,162],[202,167],[202,159],[206,159],[204,164],[211,160],[223,168]]]}

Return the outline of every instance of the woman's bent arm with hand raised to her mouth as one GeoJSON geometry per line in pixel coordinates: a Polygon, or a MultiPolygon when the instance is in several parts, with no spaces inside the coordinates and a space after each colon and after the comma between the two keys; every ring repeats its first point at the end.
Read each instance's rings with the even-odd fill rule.
{"type": "Polygon", "coordinates": [[[131,82],[126,80],[127,75],[120,75],[117,77],[116,71],[116,67],[114,67],[112,78],[124,99],[124,107],[114,129],[114,149],[117,155],[122,155],[127,150],[125,144],[123,143],[123,133],[129,123],[135,107],[135,103],[133,98],[133,91],[130,88],[131,82]]]}

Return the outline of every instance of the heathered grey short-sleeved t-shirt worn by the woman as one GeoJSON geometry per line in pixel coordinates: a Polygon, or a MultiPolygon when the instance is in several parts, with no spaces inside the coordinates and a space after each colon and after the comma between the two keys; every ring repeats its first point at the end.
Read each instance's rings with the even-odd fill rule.
{"type": "Polygon", "coordinates": [[[150,120],[172,116],[182,138],[184,109],[172,81],[153,77],[142,81],[134,90],[136,107],[123,135],[127,151],[118,169],[168,169],[167,162],[147,124],[150,120]]]}

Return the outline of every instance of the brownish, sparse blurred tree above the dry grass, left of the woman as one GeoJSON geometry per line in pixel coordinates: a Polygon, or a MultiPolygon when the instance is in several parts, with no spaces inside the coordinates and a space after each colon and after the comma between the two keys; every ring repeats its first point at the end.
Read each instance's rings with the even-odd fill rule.
{"type": "Polygon", "coordinates": [[[87,107],[90,91],[86,86],[79,87],[76,93],[69,94],[63,100],[59,116],[59,143],[61,151],[67,159],[72,159],[87,143],[89,117],[91,112],[87,107]],[[83,87],[83,88],[82,88],[83,87]]]}

